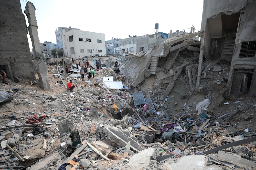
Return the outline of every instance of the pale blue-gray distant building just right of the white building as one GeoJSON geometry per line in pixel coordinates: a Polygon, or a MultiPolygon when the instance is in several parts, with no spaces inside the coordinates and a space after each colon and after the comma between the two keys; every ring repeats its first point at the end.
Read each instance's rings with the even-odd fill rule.
{"type": "Polygon", "coordinates": [[[106,45],[106,55],[120,55],[120,39],[112,38],[112,40],[108,40],[105,42],[106,45]]]}

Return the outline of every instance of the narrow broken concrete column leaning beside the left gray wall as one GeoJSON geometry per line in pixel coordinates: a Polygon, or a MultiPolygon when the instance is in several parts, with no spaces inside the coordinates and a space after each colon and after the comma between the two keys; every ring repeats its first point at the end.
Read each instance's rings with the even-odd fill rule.
{"type": "Polygon", "coordinates": [[[47,68],[45,62],[42,60],[42,52],[41,46],[39,42],[38,32],[37,32],[37,22],[36,22],[36,13],[35,13],[35,6],[31,2],[27,2],[26,10],[24,11],[28,17],[29,23],[29,36],[32,41],[32,46],[35,55],[35,70],[38,74],[39,81],[40,81],[40,88],[44,89],[45,91],[50,91],[50,84],[47,77],[47,68]]]}

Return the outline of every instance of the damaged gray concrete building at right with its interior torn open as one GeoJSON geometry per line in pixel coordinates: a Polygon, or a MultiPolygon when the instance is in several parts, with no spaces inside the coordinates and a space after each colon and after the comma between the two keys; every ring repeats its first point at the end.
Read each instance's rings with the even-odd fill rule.
{"type": "Polygon", "coordinates": [[[204,1],[199,67],[204,59],[214,59],[202,69],[206,74],[219,61],[230,64],[226,96],[239,96],[240,91],[250,97],[256,93],[255,9],[255,0],[204,1]]]}

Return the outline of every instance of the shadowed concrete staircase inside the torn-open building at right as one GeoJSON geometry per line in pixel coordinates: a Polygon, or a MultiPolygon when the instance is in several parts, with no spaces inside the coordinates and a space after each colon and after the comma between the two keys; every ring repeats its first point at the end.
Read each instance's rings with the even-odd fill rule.
{"type": "Polygon", "coordinates": [[[234,50],[235,40],[232,37],[226,37],[224,46],[222,49],[221,58],[225,59],[226,61],[231,61],[233,56],[233,50],[234,50]]]}

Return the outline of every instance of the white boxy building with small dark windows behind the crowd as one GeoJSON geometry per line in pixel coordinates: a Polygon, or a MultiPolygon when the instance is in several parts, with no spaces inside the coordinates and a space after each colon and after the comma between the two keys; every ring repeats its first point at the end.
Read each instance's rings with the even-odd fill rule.
{"type": "Polygon", "coordinates": [[[77,59],[106,55],[105,34],[77,29],[63,29],[62,34],[65,57],[77,59]]]}

